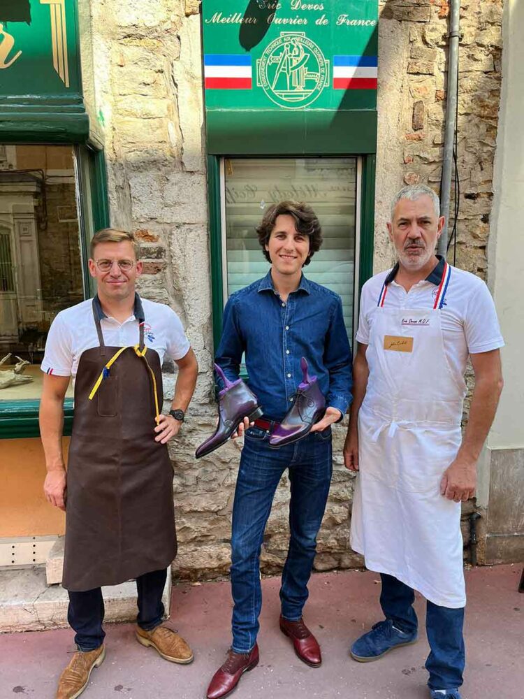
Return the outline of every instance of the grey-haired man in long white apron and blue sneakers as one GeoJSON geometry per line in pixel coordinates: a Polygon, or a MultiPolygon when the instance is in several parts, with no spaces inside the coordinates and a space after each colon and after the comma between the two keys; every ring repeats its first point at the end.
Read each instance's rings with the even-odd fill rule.
{"type": "Polygon", "coordinates": [[[504,345],[486,284],[435,255],[444,218],[424,185],[393,200],[392,270],[368,280],[356,339],[354,402],[344,462],[358,471],[351,547],[381,574],[386,619],[351,647],[356,661],[414,643],[414,590],[428,600],[432,699],[460,699],[465,585],[460,503],[502,390],[504,345]],[[468,356],[475,389],[460,430],[468,356]]]}

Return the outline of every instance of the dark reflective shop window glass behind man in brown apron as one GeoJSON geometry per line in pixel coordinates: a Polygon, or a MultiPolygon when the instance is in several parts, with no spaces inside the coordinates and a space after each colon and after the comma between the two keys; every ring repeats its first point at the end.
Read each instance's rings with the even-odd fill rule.
{"type": "Polygon", "coordinates": [[[0,407],[40,398],[50,324],[85,298],[76,171],[72,146],[0,147],[0,407]]]}

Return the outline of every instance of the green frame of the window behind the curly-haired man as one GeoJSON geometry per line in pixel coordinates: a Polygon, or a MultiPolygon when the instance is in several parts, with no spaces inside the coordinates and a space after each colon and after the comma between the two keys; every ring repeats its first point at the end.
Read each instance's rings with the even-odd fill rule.
{"type": "MultiPolygon", "coordinates": [[[[274,154],[273,157],[321,157],[321,154],[307,153],[274,154]]],[[[224,160],[227,157],[257,157],[248,154],[208,155],[208,206],[210,229],[211,291],[213,342],[216,352],[222,333],[224,306],[226,305],[227,284],[226,254],[224,250],[225,231],[225,178],[224,160]]],[[[258,156],[263,157],[263,156],[258,156]]],[[[270,157],[265,156],[265,157],[270,157]]],[[[337,153],[329,157],[355,157],[357,159],[357,196],[356,196],[356,236],[355,236],[355,289],[354,299],[354,337],[358,327],[358,307],[363,284],[373,273],[374,250],[374,188],[377,157],[374,153],[337,153]]]]}

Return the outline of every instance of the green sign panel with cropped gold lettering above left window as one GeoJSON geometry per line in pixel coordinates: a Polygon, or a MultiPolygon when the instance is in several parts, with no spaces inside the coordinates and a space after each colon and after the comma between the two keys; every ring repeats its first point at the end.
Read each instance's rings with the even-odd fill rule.
{"type": "Polygon", "coordinates": [[[76,0],[0,0],[0,140],[86,140],[76,0]]]}

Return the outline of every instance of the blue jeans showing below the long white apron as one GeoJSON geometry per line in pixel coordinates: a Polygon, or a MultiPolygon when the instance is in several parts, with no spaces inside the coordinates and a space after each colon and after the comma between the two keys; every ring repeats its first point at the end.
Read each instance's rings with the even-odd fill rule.
{"type": "MultiPolygon", "coordinates": [[[[416,631],[418,622],[413,608],[414,591],[391,575],[381,574],[380,605],[386,619],[405,633],[416,631]]],[[[425,630],[431,652],[425,661],[430,673],[430,689],[458,689],[463,684],[466,662],[464,647],[464,607],[439,607],[428,600],[425,630]]]]}

